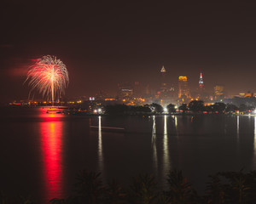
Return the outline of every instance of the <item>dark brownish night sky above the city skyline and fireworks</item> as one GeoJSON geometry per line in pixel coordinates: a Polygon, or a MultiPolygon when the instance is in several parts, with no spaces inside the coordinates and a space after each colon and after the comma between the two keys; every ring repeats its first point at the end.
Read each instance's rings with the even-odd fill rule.
{"type": "MultiPolygon", "coordinates": [[[[253,1],[252,1],[253,2],[253,1]]],[[[51,54],[69,71],[67,97],[115,92],[117,82],[154,87],[189,77],[256,92],[256,12],[248,1],[5,0],[0,7],[0,96],[26,99],[31,59],[51,54]]]]}

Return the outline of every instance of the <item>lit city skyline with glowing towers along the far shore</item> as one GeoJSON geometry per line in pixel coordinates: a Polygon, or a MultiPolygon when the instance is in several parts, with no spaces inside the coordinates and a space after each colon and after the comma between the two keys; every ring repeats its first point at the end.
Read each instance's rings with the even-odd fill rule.
{"type": "MultiPolygon", "coordinates": [[[[143,100],[146,99],[146,102],[148,101],[158,101],[157,103],[162,104],[162,99],[166,101],[166,103],[172,103],[172,104],[181,104],[186,103],[188,104],[190,100],[194,99],[201,99],[205,102],[214,101],[216,99],[231,99],[234,96],[236,97],[247,97],[247,96],[254,96],[255,93],[251,92],[250,90],[246,92],[237,93],[236,95],[230,95],[227,94],[226,87],[224,84],[216,83],[212,86],[212,88],[208,88],[210,91],[206,91],[205,89],[205,82],[202,77],[202,71],[199,73],[199,80],[197,82],[197,87],[193,86],[191,88],[190,86],[190,79],[187,76],[178,76],[177,82],[168,81],[166,78],[166,68],[164,65],[162,65],[160,71],[160,76],[157,76],[158,78],[155,78],[155,81],[157,82],[157,85],[152,86],[152,82],[149,85],[149,83],[142,84],[141,82],[137,81],[124,81],[124,82],[118,82],[116,84],[115,91],[111,92],[109,90],[106,90],[104,88],[100,88],[97,92],[94,94],[87,94],[87,95],[79,95],[79,96],[65,96],[64,93],[60,94],[58,99],[64,99],[67,101],[67,99],[83,99],[83,100],[89,100],[90,98],[101,98],[101,99],[116,99],[119,101],[120,99],[126,99],[126,102],[131,98],[142,98],[143,100]],[[149,89],[148,89],[149,88],[149,89]],[[148,90],[147,90],[148,89],[148,90]],[[218,89],[218,90],[217,90],[218,89]],[[153,98],[152,98],[153,97],[153,98]],[[151,98],[151,99],[149,99],[151,98]],[[128,99],[128,100],[127,100],[128,99]],[[147,100],[149,99],[149,100],[147,100]]],[[[194,81],[194,80],[193,80],[194,81]]],[[[26,81],[26,87],[29,87],[29,83],[26,81]]],[[[19,101],[19,100],[39,100],[39,101],[51,101],[48,98],[45,98],[44,94],[40,94],[40,91],[34,91],[34,94],[32,96],[30,94],[31,91],[29,91],[27,99],[11,99],[7,102],[12,101],[19,101]]],[[[125,100],[124,100],[125,101],[125,100]]],[[[145,100],[144,100],[145,101],[145,100]]],[[[147,103],[145,103],[147,104],[147,103]]]]}

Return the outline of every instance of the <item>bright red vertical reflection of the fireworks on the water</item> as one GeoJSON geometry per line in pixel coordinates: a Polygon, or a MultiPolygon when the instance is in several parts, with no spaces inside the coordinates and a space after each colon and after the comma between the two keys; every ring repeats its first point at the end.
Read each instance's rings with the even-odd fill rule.
{"type": "Polygon", "coordinates": [[[63,196],[62,121],[61,114],[42,110],[41,144],[44,165],[44,198],[49,201],[63,196]]]}

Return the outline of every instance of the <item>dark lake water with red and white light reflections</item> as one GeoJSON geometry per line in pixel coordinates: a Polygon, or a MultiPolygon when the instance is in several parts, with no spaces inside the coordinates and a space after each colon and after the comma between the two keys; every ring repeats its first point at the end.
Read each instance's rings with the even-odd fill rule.
{"type": "Polygon", "coordinates": [[[164,189],[166,174],[177,168],[200,193],[211,173],[256,169],[254,116],[64,116],[3,108],[0,127],[0,190],[42,203],[71,195],[83,169],[123,185],[153,173],[164,189]]]}

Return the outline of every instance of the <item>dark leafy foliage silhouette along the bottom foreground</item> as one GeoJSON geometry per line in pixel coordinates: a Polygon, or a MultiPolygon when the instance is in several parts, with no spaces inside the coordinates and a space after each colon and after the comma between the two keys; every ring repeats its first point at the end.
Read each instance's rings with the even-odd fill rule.
{"type": "MultiPolygon", "coordinates": [[[[182,171],[167,175],[167,189],[160,190],[153,175],[131,179],[129,188],[112,180],[103,184],[101,173],[81,171],[75,193],[54,198],[51,204],[255,204],[256,171],[220,172],[209,176],[205,195],[198,195],[182,171]]],[[[1,204],[36,204],[30,196],[8,197],[0,191],[1,204]]]]}

